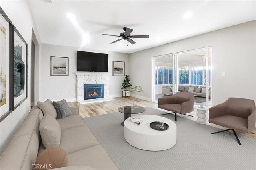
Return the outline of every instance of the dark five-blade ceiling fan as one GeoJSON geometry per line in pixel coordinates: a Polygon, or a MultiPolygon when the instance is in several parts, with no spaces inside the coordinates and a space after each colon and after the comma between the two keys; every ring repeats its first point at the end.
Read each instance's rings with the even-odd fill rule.
{"type": "Polygon", "coordinates": [[[120,41],[121,39],[127,40],[129,43],[131,44],[135,44],[136,42],[133,41],[131,38],[149,38],[149,35],[131,35],[133,29],[130,28],[126,28],[124,27],[124,33],[120,33],[119,35],[110,35],[110,34],[102,34],[102,35],[110,35],[110,36],[114,36],[114,37],[122,37],[116,41],[111,42],[110,44],[114,44],[117,41],[120,41]]]}

